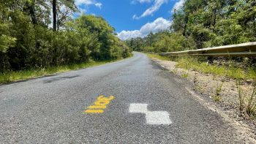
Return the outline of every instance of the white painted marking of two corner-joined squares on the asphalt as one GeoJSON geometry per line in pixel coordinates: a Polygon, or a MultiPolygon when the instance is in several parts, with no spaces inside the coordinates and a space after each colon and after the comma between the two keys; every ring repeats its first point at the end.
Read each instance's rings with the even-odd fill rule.
{"type": "Polygon", "coordinates": [[[147,124],[172,124],[167,111],[148,111],[148,104],[130,104],[129,113],[145,113],[147,124]]]}

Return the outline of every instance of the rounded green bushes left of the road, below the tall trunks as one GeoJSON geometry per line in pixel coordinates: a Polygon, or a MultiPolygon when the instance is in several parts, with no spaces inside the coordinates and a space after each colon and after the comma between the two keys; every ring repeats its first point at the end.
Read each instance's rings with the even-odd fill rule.
{"type": "Polygon", "coordinates": [[[34,25],[25,12],[10,12],[10,24],[0,20],[0,72],[80,64],[125,58],[130,50],[101,17],[81,15],[62,30],[34,25]]]}

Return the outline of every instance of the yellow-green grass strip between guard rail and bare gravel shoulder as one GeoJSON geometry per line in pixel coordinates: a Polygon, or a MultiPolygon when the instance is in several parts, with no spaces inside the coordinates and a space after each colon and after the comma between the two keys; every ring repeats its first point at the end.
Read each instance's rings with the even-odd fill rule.
{"type": "Polygon", "coordinates": [[[218,66],[198,61],[197,58],[192,58],[189,56],[184,56],[180,58],[168,58],[167,56],[159,56],[157,54],[147,55],[149,58],[157,58],[165,61],[175,60],[177,62],[176,67],[182,69],[194,69],[197,72],[203,72],[206,74],[223,76],[232,79],[256,80],[256,69],[252,67],[249,67],[248,69],[242,69],[239,67],[233,67],[232,65],[230,67],[218,66]]]}

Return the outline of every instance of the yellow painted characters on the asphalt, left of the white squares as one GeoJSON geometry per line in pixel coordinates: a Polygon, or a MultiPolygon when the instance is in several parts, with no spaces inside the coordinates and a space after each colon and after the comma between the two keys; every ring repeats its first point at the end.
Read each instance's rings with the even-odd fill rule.
{"type": "Polygon", "coordinates": [[[107,105],[110,103],[115,96],[105,97],[103,95],[97,98],[97,101],[94,102],[94,105],[88,107],[88,110],[85,110],[84,113],[104,113],[104,109],[107,108],[107,105]]]}

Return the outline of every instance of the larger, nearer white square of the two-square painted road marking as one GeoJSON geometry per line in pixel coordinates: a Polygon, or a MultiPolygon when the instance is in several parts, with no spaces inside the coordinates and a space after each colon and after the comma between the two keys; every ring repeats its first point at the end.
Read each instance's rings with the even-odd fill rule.
{"type": "Polygon", "coordinates": [[[170,121],[169,113],[166,111],[153,111],[146,113],[147,124],[172,124],[170,121]]]}

